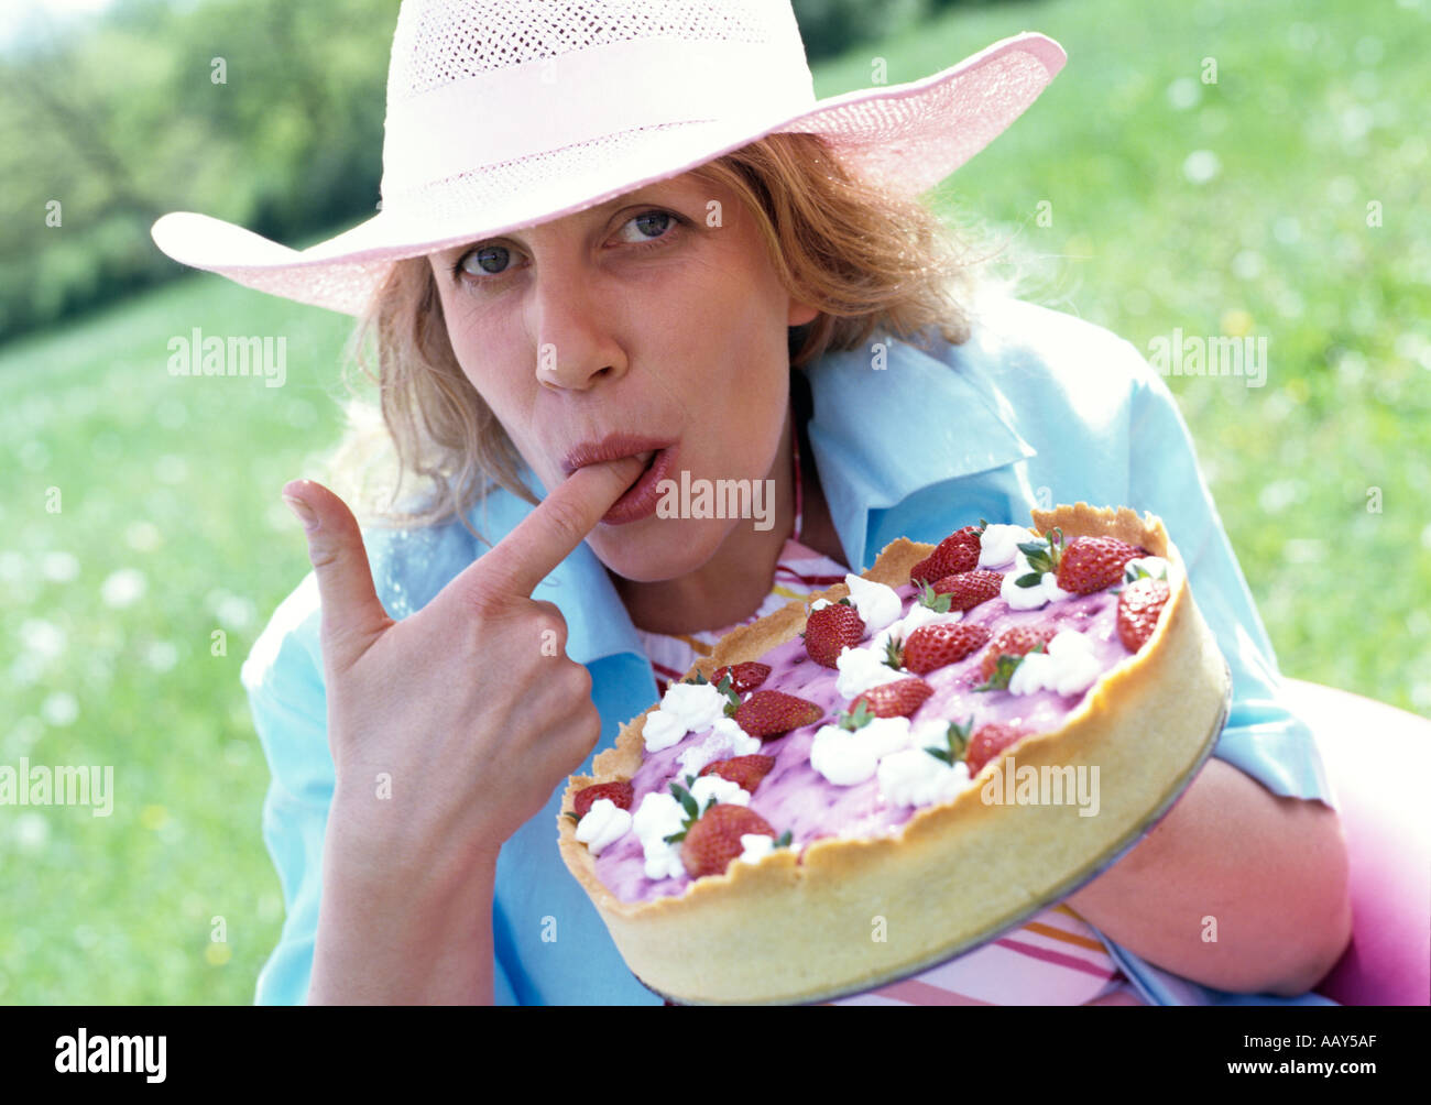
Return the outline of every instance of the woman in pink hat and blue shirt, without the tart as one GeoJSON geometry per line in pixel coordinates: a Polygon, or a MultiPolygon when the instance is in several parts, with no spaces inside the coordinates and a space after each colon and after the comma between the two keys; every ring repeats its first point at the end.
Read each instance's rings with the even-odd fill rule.
{"type": "Polygon", "coordinates": [[[1062,50],[1019,36],[816,104],[787,4],[608,9],[554,29],[565,9],[409,0],[376,219],[303,255],[155,228],[362,313],[431,492],[361,535],[326,488],[285,488],[315,573],[245,664],[289,906],[259,999],[657,1001],[560,862],[565,777],[730,625],[1040,498],[1163,517],[1234,670],[1218,759],[1022,939],[851,1001],[1307,990],[1349,932],[1339,827],[1166,388],[1098,328],[976,298],[910,202],[1062,50]],[[683,472],[768,481],[773,511],[627,494],[683,472]]]}

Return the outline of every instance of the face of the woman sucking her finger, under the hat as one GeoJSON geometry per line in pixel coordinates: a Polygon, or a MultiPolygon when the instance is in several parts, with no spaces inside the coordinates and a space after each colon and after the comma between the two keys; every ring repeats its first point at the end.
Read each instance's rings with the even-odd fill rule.
{"type": "MultiPolygon", "coordinates": [[[[787,328],[817,312],[780,286],[733,193],[685,175],[431,262],[462,371],[548,490],[615,434],[638,439],[618,455],[668,444],[647,487],[684,471],[693,492],[701,480],[754,491],[771,477],[787,328]]],[[[678,517],[608,514],[587,541],[618,575],[668,580],[757,524],[687,517],[688,502],[667,500],[678,517]]]]}

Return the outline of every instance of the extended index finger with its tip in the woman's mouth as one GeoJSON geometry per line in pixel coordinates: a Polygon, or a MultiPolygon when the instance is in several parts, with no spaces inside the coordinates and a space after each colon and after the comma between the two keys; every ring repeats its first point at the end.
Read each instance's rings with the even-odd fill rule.
{"type": "Polygon", "coordinates": [[[472,565],[484,590],[529,598],[537,584],[571,555],[621,498],[641,467],[635,457],[590,464],[548,491],[531,514],[472,565]]]}

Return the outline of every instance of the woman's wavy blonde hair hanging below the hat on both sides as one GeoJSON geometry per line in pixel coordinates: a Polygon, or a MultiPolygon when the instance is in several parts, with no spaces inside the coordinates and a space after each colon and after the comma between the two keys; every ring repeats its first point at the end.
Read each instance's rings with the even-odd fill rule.
{"type": "MultiPolygon", "coordinates": [[[[691,175],[740,199],[784,288],[820,311],[790,331],[791,371],[859,348],[877,329],[909,341],[926,329],[952,344],[967,339],[976,275],[960,235],[922,202],[844,172],[819,136],[768,135],[691,175]]],[[[521,455],[452,352],[425,256],[395,262],[359,318],[343,368],[356,395],[351,366],[376,386],[378,409],[348,405],[328,480],[361,515],[398,525],[455,515],[482,540],[467,515],[494,485],[537,502],[518,475],[521,455]],[[399,507],[409,477],[422,491],[399,507]]]]}

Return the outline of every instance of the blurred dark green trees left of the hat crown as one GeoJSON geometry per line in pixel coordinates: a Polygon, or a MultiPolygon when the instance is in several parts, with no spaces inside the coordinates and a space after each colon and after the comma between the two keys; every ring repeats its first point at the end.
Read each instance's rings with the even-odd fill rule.
{"type": "Polygon", "coordinates": [[[149,238],[167,210],[286,243],[371,216],[395,23],[392,0],[130,1],[0,56],[0,338],[187,272],[149,238]]]}

